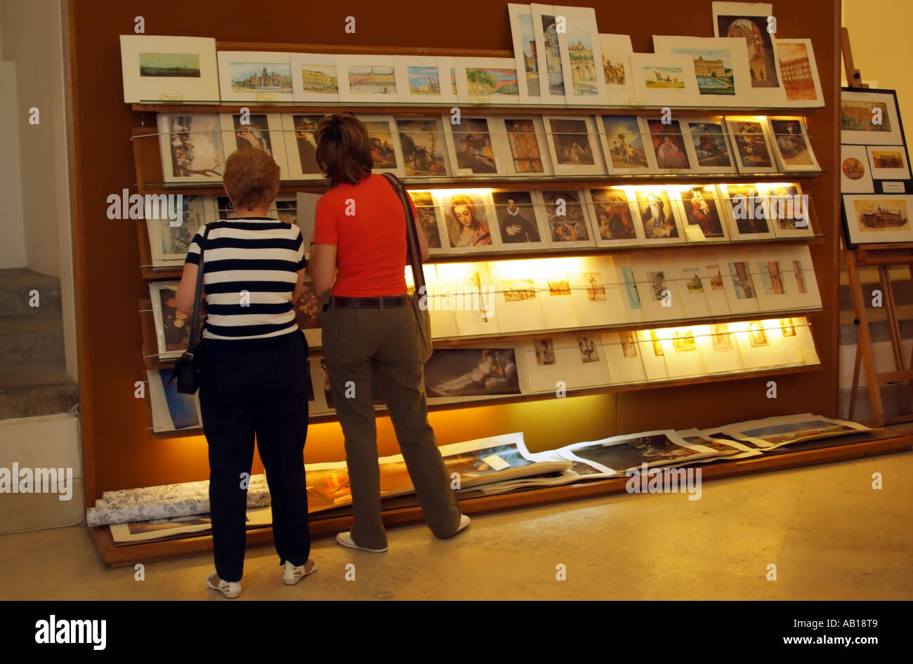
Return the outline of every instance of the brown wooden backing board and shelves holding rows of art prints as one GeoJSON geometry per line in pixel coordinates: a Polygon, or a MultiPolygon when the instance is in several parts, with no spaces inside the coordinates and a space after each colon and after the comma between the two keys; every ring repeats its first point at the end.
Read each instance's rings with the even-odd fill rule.
{"type": "MultiPolygon", "coordinates": [[[[394,3],[395,4],[395,3],[394,3]]],[[[609,3],[598,0],[595,3],[597,17],[603,21],[601,32],[620,32],[632,35],[637,52],[647,52],[649,35],[643,26],[653,26],[656,34],[687,34],[708,36],[710,30],[709,3],[706,11],[680,11],[677,0],[656,0],[654,3],[631,5],[624,15],[611,11],[609,3]],[[606,24],[614,16],[611,26],[606,24]]],[[[277,0],[270,5],[270,13],[279,16],[298,16],[300,3],[293,0],[277,0]]],[[[462,9],[466,16],[490,16],[491,20],[478,21],[472,31],[460,31],[456,36],[453,28],[445,21],[429,21],[426,16],[412,16],[402,12],[401,20],[391,23],[389,15],[397,11],[390,4],[378,4],[369,0],[352,0],[349,11],[358,16],[358,36],[340,36],[351,39],[346,45],[294,44],[299,41],[317,41],[324,38],[325,26],[335,15],[326,14],[325,8],[312,7],[317,12],[314,20],[301,24],[299,21],[266,21],[241,25],[236,13],[209,12],[202,22],[188,21],[182,25],[182,34],[188,36],[224,35],[250,37],[252,40],[269,36],[278,43],[250,43],[220,41],[223,50],[303,50],[307,52],[339,53],[383,53],[402,55],[449,55],[467,57],[513,57],[505,49],[490,49],[491,44],[500,44],[509,35],[508,13],[504,5],[492,5],[490,0],[465,0],[462,9]],[[438,25],[441,24],[441,25],[438,25]],[[446,45],[460,44],[460,48],[403,47],[415,43],[416,36],[425,43],[446,45]],[[377,44],[376,47],[364,43],[377,44]]],[[[161,2],[144,7],[147,26],[159,32],[167,32],[173,26],[173,16],[181,16],[186,7],[178,0],[161,2]]],[[[194,9],[194,11],[196,11],[194,9]]],[[[202,12],[203,10],[200,10],[202,12]]],[[[194,16],[200,16],[197,12],[194,16]]],[[[815,201],[819,219],[817,230],[820,236],[811,239],[791,240],[809,245],[813,255],[815,275],[822,293],[823,308],[807,313],[814,330],[815,346],[822,364],[813,368],[796,368],[790,372],[753,372],[746,375],[729,375],[697,380],[675,381],[673,383],[648,384],[644,386],[620,386],[613,389],[582,389],[569,391],[571,394],[603,394],[593,404],[593,410],[585,417],[561,422],[561,429],[551,430],[543,423],[531,426],[529,439],[548,432],[547,441],[539,441],[538,449],[545,444],[560,447],[568,442],[595,440],[624,431],[646,431],[657,428],[699,428],[719,425],[725,419],[719,413],[739,413],[739,418],[752,419],[782,415],[794,412],[797,404],[803,410],[812,410],[824,416],[837,415],[837,351],[838,351],[838,236],[834,226],[835,205],[839,190],[839,75],[836,67],[838,50],[837,31],[839,28],[839,3],[837,0],[808,0],[805,3],[778,3],[777,13],[783,36],[809,37],[815,47],[815,55],[821,69],[821,83],[825,104],[820,109],[716,109],[717,114],[755,112],[759,114],[806,115],[809,132],[815,137],[815,150],[824,171],[820,173],[791,173],[791,180],[802,179],[803,190],[815,201]],[[816,16],[809,22],[807,16],[816,16]],[[792,27],[789,27],[792,26],[792,27]],[[795,34],[787,34],[787,30],[795,34]],[[826,225],[820,220],[826,220],[826,225]],[[801,369],[801,370],[800,370],[801,369]],[[777,376],[779,399],[763,399],[758,395],[768,376],[777,376]],[[646,398],[644,390],[650,389],[646,398]],[[657,391],[658,390],[658,391],[657,391]],[[612,403],[614,402],[614,403],[612,403]],[[657,410],[655,404],[663,408],[657,410]],[[611,405],[610,405],[611,403],[611,405]],[[614,418],[604,413],[611,412],[614,418]],[[606,422],[611,422],[609,425],[606,422]],[[570,438],[570,440],[568,440],[570,438]]],[[[149,316],[137,316],[137,309],[148,308],[146,303],[138,306],[138,300],[148,298],[148,282],[152,279],[173,278],[179,271],[153,270],[148,255],[149,240],[145,236],[145,224],[116,222],[106,219],[107,197],[110,192],[121,192],[136,174],[138,192],[177,192],[173,186],[164,186],[161,175],[161,160],[158,141],[150,138],[132,140],[133,149],[127,147],[126,139],[131,136],[148,135],[151,129],[145,114],[177,109],[218,112],[236,110],[241,104],[173,104],[171,108],[161,104],[142,104],[125,107],[121,89],[117,85],[99,85],[99,81],[120,79],[120,58],[118,57],[118,36],[132,29],[131,17],[124,18],[120,0],[96,0],[91,6],[66,0],[64,3],[66,92],[68,101],[68,158],[70,173],[70,196],[73,213],[73,262],[76,286],[77,321],[79,325],[79,397],[81,412],[81,437],[83,444],[83,467],[85,500],[94,503],[103,491],[133,486],[151,486],[168,482],[199,479],[205,476],[205,450],[201,451],[183,443],[187,439],[174,435],[151,437],[146,431],[146,406],[137,403],[133,397],[133,384],[144,374],[146,366],[159,368],[167,364],[150,365],[140,361],[138,355],[150,355],[154,346],[154,334],[149,337],[149,316]],[[126,22],[125,22],[126,21],[126,22]],[[89,47],[91,45],[91,47],[89,47]],[[197,108],[199,107],[199,108],[197,108]],[[139,126],[139,125],[144,126],[139,126]],[[107,137],[108,140],[100,140],[107,137]],[[158,183],[158,184],[156,184],[158,183]],[[134,253],[134,242],[139,241],[139,252],[134,253]],[[137,265],[143,265],[137,271],[137,265]],[[142,343],[141,343],[142,339],[142,343]],[[142,345],[145,350],[141,351],[142,345]],[[125,358],[130,358],[125,360],[125,358]],[[121,361],[119,361],[121,360],[121,361]]],[[[341,34],[341,33],[340,33],[341,34]]],[[[284,109],[305,110],[308,105],[245,104],[253,112],[284,109]]],[[[461,105],[466,106],[466,105],[461,105]]],[[[320,106],[319,110],[326,110],[320,106]]],[[[348,108],[348,107],[347,107],[348,108]]],[[[565,108],[561,114],[643,114],[650,111],[645,107],[613,108],[565,108]]],[[[441,109],[407,107],[366,107],[371,112],[385,112],[394,115],[415,114],[426,116],[439,114],[441,109]]],[[[536,107],[473,107],[474,111],[486,114],[536,112],[536,107]]],[[[676,109],[680,117],[708,115],[715,109],[676,109]]],[[[662,183],[662,182],[720,182],[739,181],[750,178],[757,182],[782,180],[782,175],[746,176],[729,174],[725,177],[700,174],[696,177],[677,174],[674,176],[622,176],[604,178],[562,178],[548,180],[524,180],[525,186],[553,186],[555,182],[567,186],[604,186],[606,184],[662,183]]],[[[452,181],[448,181],[452,182],[452,181]]],[[[483,180],[474,179],[475,186],[514,186],[516,179],[483,180]]],[[[422,186],[432,182],[423,181],[422,186]]],[[[459,182],[460,185],[463,182],[459,182]]],[[[319,182],[283,183],[284,191],[323,191],[319,182]]],[[[182,187],[184,188],[184,187],[182,187]]],[[[196,187],[185,187],[192,193],[221,193],[218,185],[211,183],[196,187]]],[[[839,209],[839,208],[837,208],[839,209]]],[[[132,223],[132,222],[130,222],[132,223]]],[[[741,244],[741,243],[740,243],[741,244]]],[[[686,245],[687,246],[687,245],[686,245]]],[[[668,247],[673,249],[674,247],[668,247]]],[[[606,251],[606,248],[572,250],[561,255],[583,255],[590,252],[606,251]]],[[[630,250],[628,250],[630,251],[630,250]]],[[[515,253],[498,255],[498,260],[529,258],[532,254],[515,253]]],[[[554,255],[542,253],[540,255],[554,255]]],[[[491,254],[473,254],[472,260],[494,258],[491,254]]],[[[466,260],[465,255],[436,256],[433,260],[466,260]]],[[[796,312],[796,315],[799,315],[796,312]]],[[[746,316],[741,316],[746,317],[746,316]]],[[[657,324],[654,324],[655,327],[657,324]]],[[[465,339],[463,339],[465,341],[465,339]]],[[[143,375],[144,378],[144,375],[143,375]]],[[[525,395],[519,398],[498,399],[498,404],[541,399],[540,395],[525,395]]],[[[488,405],[496,401],[488,402],[488,405]]],[[[541,403],[541,402],[540,402],[541,403]]],[[[478,402],[455,404],[433,409],[431,420],[436,426],[439,444],[467,440],[467,438],[490,435],[505,431],[480,433],[478,424],[471,413],[460,418],[449,418],[446,410],[456,408],[471,411],[478,402]],[[442,425],[441,422],[450,424],[442,425]]],[[[565,406],[561,406],[564,408],[565,406]]],[[[498,406],[500,408],[500,406],[498,406]]],[[[514,420],[536,422],[542,406],[504,406],[514,420]],[[514,412],[514,410],[519,412],[514,412]]],[[[480,407],[480,412],[485,412],[480,407]]],[[[730,418],[735,419],[735,418],[730,418]]],[[[488,421],[488,420],[487,420],[488,421]]],[[[489,422],[490,424],[490,422],[489,422]]],[[[497,427],[496,427],[497,428],[497,427]]],[[[320,436],[309,435],[309,449],[318,443],[323,446],[335,445],[341,449],[341,435],[326,427],[319,429],[320,436]],[[335,436],[335,438],[334,438],[335,436]]],[[[196,432],[199,435],[199,431],[196,432]]],[[[784,451],[762,457],[736,462],[713,462],[702,466],[706,479],[729,477],[751,472],[767,472],[782,468],[831,462],[871,454],[901,451],[910,448],[909,436],[887,432],[882,436],[868,436],[856,441],[841,441],[834,447],[801,451],[784,451]]],[[[390,440],[379,440],[382,451],[392,444],[390,440]]],[[[537,443],[533,442],[533,449],[537,443]]],[[[328,449],[334,449],[329,448],[328,449]]],[[[389,449],[389,447],[387,448],[389,449]]],[[[255,467],[255,472],[257,471],[255,467]]],[[[565,486],[547,487],[517,493],[494,496],[465,495],[461,504],[468,514],[520,507],[537,503],[550,503],[610,493],[624,492],[624,481],[603,480],[581,482],[565,486]]],[[[386,503],[385,503],[386,504],[386,503]]],[[[412,523],[421,519],[421,511],[407,497],[400,503],[390,503],[384,512],[386,524],[412,523]]],[[[346,514],[315,514],[311,521],[314,536],[333,534],[348,527],[351,517],[346,514]]],[[[110,531],[92,528],[93,538],[104,561],[110,565],[129,565],[134,562],[199,553],[211,548],[209,536],[189,537],[180,540],[147,543],[142,545],[113,546],[110,531]]],[[[250,545],[265,545],[271,541],[271,531],[258,529],[248,533],[250,545]]]]}

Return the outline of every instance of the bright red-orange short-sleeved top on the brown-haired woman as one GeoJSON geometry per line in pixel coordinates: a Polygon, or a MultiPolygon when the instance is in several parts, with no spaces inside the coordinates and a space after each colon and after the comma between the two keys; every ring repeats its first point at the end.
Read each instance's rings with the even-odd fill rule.
{"type": "Polygon", "coordinates": [[[405,293],[405,212],[383,175],[372,173],[358,184],[339,184],[320,196],[314,243],[336,247],[334,296],[405,293]]]}

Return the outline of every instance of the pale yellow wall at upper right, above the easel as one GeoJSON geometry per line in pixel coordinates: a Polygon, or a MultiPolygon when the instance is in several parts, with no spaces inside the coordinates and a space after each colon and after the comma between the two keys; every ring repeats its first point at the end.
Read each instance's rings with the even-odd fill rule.
{"type": "MultiPolygon", "coordinates": [[[[911,0],[844,0],[843,25],[850,34],[853,63],[872,88],[897,90],[905,134],[913,131],[913,23],[911,0]]],[[[909,139],[908,139],[909,140],[909,139]]]]}

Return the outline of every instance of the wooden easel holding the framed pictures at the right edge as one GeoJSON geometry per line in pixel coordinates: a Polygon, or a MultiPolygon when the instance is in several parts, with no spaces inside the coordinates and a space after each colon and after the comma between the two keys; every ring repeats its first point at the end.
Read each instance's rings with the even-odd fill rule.
{"type": "MultiPolygon", "coordinates": [[[[840,30],[840,49],[844,56],[844,68],[847,84],[850,88],[868,88],[862,82],[859,70],[853,67],[853,52],[850,49],[849,33],[845,27],[840,30]]],[[[866,244],[856,249],[845,249],[846,274],[850,282],[850,293],[853,296],[856,326],[856,354],[853,368],[853,390],[850,394],[849,419],[855,411],[856,389],[859,386],[859,366],[866,371],[866,388],[872,409],[872,418],[876,427],[888,423],[913,420],[910,410],[913,397],[913,357],[909,363],[904,362],[903,337],[900,335],[900,322],[897,318],[897,303],[894,299],[894,287],[891,284],[890,269],[893,265],[907,265],[910,278],[913,278],[913,244],[866,244]],[[894,356],[894,370],[878,372],[875,365],[875,352],[872,348],[872,335],[866,318],[866,296],[862,291],[859,269],[875,267],[881,285],[882,306],[887,314],[887,327],[891,337],[891,350],[894,356]],[[885,404],[881,397],[881,388],[888,384],[907,381],[903,394],[901,413],[896,416],[885,416],[885,404]]]]}

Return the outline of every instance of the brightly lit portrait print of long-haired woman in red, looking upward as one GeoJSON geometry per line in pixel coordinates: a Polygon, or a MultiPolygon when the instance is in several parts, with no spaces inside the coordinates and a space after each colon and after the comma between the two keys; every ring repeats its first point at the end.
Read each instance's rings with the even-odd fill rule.
{"type": "Polygon", "coordinates": [[[433,192],[437,209],[444,219],[443,244],[456,251],[491,251],[499,246],[491,233],[495,220],[494,203],[488,189],[438,189],[433,192]]]}

